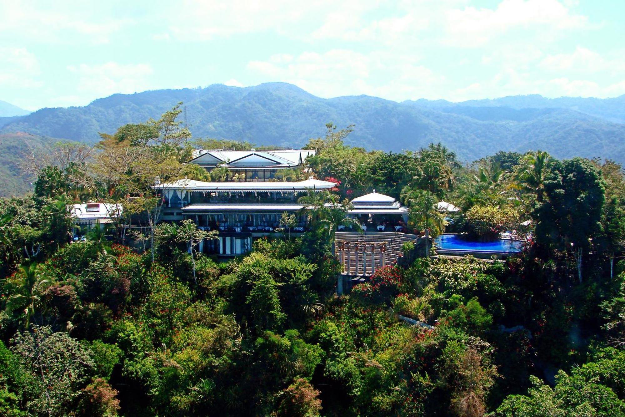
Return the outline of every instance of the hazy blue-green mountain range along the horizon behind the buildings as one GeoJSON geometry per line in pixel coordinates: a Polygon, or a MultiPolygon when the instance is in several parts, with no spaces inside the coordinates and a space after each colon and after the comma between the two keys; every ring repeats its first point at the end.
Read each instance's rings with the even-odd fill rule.
{"type": "Polygon", "coordinates": [[[244,88],[215,84],[115,94],[84,107],[0,117],[0,133],[95,143],[99,132],[113,133],[125,123],[158,118],[178,101],[186,106],[186,123],[196,138],[299,147],[322,136],[325,123],[332,121],[338,128],[354,124],[346,143],[368,150],[398,152],[442,142],[465,162],[498,150],[541,149],[557,158],[601,157],[625,163],[625,95],[398,103],[364,95],[319,98],[287,83],[244,88]]]}

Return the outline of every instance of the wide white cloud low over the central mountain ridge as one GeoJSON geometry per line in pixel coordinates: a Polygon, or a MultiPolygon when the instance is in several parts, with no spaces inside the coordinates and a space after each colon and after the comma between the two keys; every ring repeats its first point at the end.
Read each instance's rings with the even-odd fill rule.
{"type": "Polygon", "coordinates": [[[445,78],[412,56],[387,51],[362,54],[346,49],[304,52],[287,62],[251,61],[247,69],[264,81],[286,81],[321,97],[372,95],[390,100],[436,96],[445,78]],[[384,83],[379,83],[384,80],[384,83]]]}

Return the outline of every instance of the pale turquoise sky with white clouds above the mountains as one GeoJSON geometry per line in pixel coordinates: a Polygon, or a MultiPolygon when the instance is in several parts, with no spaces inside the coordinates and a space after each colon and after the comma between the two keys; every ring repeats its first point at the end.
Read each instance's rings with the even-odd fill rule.
{"type": "Polygon", "coordinates": [[[0,0],[0,100],[284,81],[324,98],[625,94],[625,0],[0,0]]]}

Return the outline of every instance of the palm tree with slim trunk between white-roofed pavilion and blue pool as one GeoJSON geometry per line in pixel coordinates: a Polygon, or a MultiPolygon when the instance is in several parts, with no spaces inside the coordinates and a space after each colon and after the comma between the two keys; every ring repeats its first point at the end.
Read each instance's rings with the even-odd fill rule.
{"type": "Polygon", "coordinates": [[[434,193],[424,190],[415,190],[408,186],[401,191],[401,200],[408,206],[411,220],[425,230],[426,257],[429,258],[429,237],[442,233],[447,225],[445,216],[438,211],[438,198],[434,193]]]}

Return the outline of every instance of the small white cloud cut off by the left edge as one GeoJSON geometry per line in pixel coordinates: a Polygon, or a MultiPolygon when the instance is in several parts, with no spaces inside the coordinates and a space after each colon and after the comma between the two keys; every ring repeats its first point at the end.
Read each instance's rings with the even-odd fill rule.
{"type": "Polygon", "coordinates": [[[0,47],[0,86],[36,88],[43,85],[39,61],[25,48],[0,47]]]}

